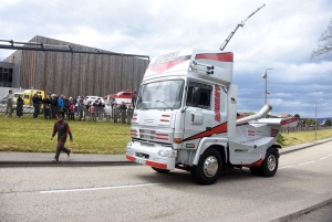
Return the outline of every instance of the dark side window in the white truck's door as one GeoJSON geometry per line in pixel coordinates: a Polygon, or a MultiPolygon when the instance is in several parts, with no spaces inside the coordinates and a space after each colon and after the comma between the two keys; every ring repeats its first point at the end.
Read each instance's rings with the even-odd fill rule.
{"type": "Polygon", "coordinates": [[[211,109],[210,97],[212,86],[189,82],[187,91],[187,106],[211,109]]]}

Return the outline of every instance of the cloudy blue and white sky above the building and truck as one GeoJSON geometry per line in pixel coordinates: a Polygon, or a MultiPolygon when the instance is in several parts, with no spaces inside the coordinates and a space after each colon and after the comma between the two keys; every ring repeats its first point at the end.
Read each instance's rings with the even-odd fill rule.
{"type": "MultiPolygon", "coordinates": [[[[0,39],[42,35],[127,54],[159,54],[198,47],[218,50],[238,23],[225,51],[234,52],[238,110],[332,116],[332,62],[310,60],[332,19],[331,0],[2,0],[0,39]]],[[[1,43],[3,44],[3,43],[1,43]]],[[[0,50],[0,59],[13,53],[0,50]]]]}

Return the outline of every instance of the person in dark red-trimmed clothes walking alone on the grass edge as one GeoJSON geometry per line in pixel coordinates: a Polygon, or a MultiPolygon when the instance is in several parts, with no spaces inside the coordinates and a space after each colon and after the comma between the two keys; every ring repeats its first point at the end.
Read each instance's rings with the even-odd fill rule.
{"type": "Polygon", "coordinates": [[[53,137],[58,133],[56,152],[55,152],[55,157],[52,159],[53,162],[59,161],[61,151],[66,152],[68,158],[70,157],[70,155],[72,152],[72,150],[64,147],[65,140],[66,140],[66,135],[70,136],[71,142],[73,142],[73,135],[72,135],[69,124],[65,120],[63,120],[62,114],[58,114],[56,116],[58,116],[58,121],[54,123],[53,133],[51,136],[51,140],[53,140],[53,137]]]}

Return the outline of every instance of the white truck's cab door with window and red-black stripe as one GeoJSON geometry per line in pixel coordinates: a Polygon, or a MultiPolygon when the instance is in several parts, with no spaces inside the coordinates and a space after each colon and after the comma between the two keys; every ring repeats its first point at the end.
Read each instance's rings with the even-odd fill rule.
{"type": "Polygon", "coordinates": [[[200,134],[214,127],[211,97],[211,85],[188,82],[183,148],[197,148],[203,137],[200,134]]]}

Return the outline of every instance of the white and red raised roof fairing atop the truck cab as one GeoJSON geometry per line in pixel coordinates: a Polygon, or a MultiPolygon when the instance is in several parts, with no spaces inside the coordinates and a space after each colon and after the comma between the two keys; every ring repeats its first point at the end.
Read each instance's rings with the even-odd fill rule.
{"type": "Polygon", "coordinates": [[[228,84],[232,81],[232,65],[231,52],[186,49],[153,59],[144,81],[164,75],[187,75],[194,78],[201,78],[204,75],[204,78],[228,84]]]}

